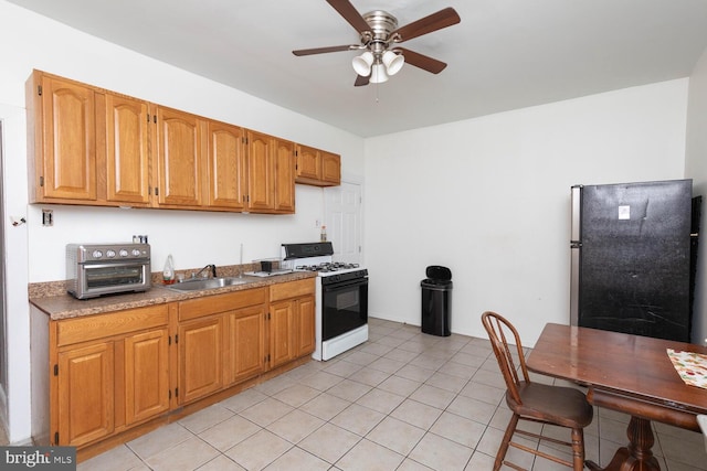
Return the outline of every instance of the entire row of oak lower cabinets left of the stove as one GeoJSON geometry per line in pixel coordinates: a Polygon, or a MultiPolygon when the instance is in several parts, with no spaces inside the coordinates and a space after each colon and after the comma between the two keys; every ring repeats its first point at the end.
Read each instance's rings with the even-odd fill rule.
{"type": "Polygon", "coordinates": [[[56,321],[32,308],[33,438],[95,449],[309,355],[314,282],[56,321]]]}

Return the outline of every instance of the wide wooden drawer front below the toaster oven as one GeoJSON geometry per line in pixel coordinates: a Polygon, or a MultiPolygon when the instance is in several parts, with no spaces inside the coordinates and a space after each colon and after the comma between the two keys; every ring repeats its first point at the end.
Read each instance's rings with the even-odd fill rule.
{"type": "Polygon", "coordinates": [[[168,323],[168,306],[150,306],[109,314],[57,321],[57,346],[71,345],[89,340],[105,339],[143,329],[151,329],[168,323]]]}

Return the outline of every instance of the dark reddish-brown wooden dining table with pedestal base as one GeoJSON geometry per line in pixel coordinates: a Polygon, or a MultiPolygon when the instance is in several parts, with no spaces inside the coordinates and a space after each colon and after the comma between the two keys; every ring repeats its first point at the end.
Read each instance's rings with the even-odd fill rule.
{"type": "Polygon", "coordinates": [[[707,389],[685,384],[667,349],[707,354],[707,347],[597,329],[548,323],[527,358],[530,371],[588,387],[588,400],[631,415],[629,445],[605,468],[659,470],[651,448],[651,421],[699,431],[697,415],[707,414],[707,389]]]}

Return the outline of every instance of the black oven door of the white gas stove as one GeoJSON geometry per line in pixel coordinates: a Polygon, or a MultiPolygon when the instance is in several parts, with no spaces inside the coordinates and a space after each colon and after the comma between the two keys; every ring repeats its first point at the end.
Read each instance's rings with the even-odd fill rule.
{"type": "Polygon", "coordinates": [[[321,286],[321,340],[368,323],[368,278],[321,286]]]}

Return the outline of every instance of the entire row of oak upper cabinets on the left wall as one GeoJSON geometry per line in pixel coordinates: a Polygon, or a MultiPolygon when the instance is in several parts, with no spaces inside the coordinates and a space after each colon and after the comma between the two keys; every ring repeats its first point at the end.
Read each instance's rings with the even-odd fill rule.
{"type": "Polygon", "coordinates": [[[30,203],[271,214],[295,182],[340,184],[340,157],[34,71],[30,203]]]}

